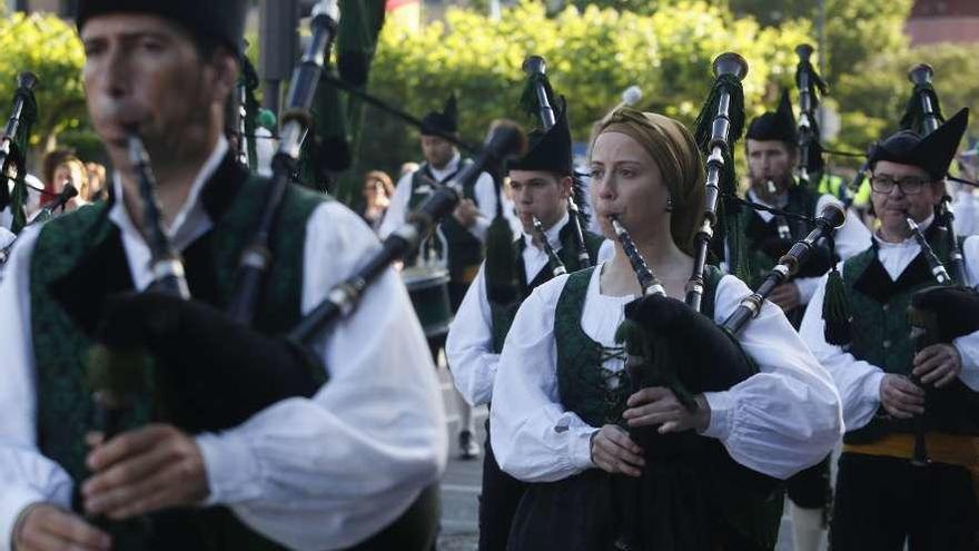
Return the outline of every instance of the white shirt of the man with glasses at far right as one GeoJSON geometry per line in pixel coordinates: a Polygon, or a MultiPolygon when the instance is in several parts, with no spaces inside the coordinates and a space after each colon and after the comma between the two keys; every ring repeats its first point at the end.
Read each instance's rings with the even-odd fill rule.
{"type": "MultiPolygon", "coordinates": [[[[932,219],[933,216],[919,224],[922,232],[931,225],[932,219]]],[[[887,243],[876,236],[874,239],[878,244],[877,257],[892,281],[897,281],[921,252],[913,237],[901,243],[887,243]]],[[[966,278],[970,286],[976,286],[979,283],[979,236],[966,239],[962,253],[966,259],[966,278]]],[[[827,276],[823,276],[802,318],[799,334],[833,376],[843,401],[843,421],[847,431],[856,431],[867,425],[880,406],[880,383],[884,371],[877,365],[857,360],[840,346],[825,342],[823,335],[825,323],[822,319],[825,282],[827,276]]],[[[970,388],[979,391],[979,332],[960,336],[952,341],[952,345],[962,357],[962,373],[959,378],[970,388]]]]}

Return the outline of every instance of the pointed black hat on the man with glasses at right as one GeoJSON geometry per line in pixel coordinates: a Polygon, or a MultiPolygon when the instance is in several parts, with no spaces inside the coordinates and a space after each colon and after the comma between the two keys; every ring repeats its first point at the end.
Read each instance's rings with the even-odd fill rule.
{"type": "Polygon", "coordinates": [[[868,164],[873,167],[880,160],[889,160],[921,167],[937,180],[945,178],[968,124],[966,108],[923,138],[912,130],[900,130],[870,148],[868,164]]]}

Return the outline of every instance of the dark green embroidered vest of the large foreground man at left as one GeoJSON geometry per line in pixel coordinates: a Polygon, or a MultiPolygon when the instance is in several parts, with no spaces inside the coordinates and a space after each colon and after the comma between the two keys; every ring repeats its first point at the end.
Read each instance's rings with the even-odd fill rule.
{"type": "MultiPolygon", "coordinates": [[[[268,185],[266,179],[248,177],[247,173],[229,167],[228,159],[206,185],[201,197],[211,189],[239,185],[240,188],[231,189],[227,197],[216,197],[230,205],[225,205],[216,219],[211,217],[215,227],[184,254],[191,295],[218,308],[229,301],[240,253],[253,234],[268,185]]],[[[285,195],[271,234],[275,262],[255,322],[255,327],[264,333],[283,333],[300,317],[305,233],[296,228],[305,228],[309,215],[324,200],[298,186],[290,186],[285,195]]],[[[109,295],[134,287],[119,230],[108,219],[109,209],[110,205],[99,203],[48,223],[38,237],[30,266],[38,445],[77,484],[90,475],[85,466],[85,435],[92,430],[96,413],[91,390],[85,381],[85,358],[92,341],[77,321],[97,315],[93,313],[101,309],[109,295]]],[[[228,392],[235,392],[234,388],[235,382],[229,381],[228,392]]],[[[125,423],[136,427],[150,421],[156,421],[151,405],[141,403],[125,423]]],[[[80,510],[77,500],[75,508],[80,510]]],[[[283,549],[246,528],[225,508],[170,510],[150,518],[151,539],[139,522],[111,523],[113,549],[283,549]]]]}

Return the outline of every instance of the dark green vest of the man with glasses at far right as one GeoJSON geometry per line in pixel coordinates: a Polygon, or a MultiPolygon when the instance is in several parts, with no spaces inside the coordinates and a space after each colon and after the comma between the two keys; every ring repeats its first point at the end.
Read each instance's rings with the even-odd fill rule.
{"type": "MultiPolygon", "coordinates": [[[[936,256],[948,265],[948,242],[943,229],[932,224],[926,237],[936,256]]],[[[857,360],[876,365],[886,373],[909,375],[916,350],[908,307],[914,293],[937,283],[921,254],[914,257],[897,281],[892,281],[878,259],[877,247],[874,242],[870,248],[843,264],[847,301],[853,316],[849,352],[857,360]]],[[[948,388],[929,388],[928,414],[924,417],[928,429],[979,434],[979,420],[968,419],[963,414],[966,409],[962,400],[969,400],[969,395],[975,400],[976,393],[960,383],[948,388]]],[[[870,423],[849,431],[843,440],[847,443],[867,443],[892,432],[910,433],[913,432],[913,425],[909,421],[890,419],[881,409],[870,423]]]]}

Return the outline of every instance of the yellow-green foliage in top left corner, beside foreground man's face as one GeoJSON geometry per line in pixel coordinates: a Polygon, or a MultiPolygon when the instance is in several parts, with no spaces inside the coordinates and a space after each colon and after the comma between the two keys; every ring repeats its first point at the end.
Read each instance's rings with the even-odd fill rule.
{"type": "Polygon", "coordinates": [[[26,70],[37,75],[39,117],[32,146],[43,147],[66,131],[85,134],[82,65],[85,51],[70,23],[52,13],[0,12],[0,114],[3,120],[9,116],[17,75],[26,70]]]}

